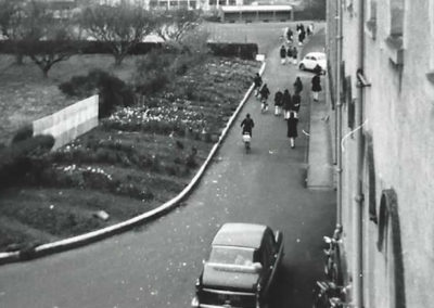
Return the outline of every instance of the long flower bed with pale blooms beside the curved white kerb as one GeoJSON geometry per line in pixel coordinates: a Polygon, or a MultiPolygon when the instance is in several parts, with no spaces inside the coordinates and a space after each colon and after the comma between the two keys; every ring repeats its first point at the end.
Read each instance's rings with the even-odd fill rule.
{"type": "MultiPolygon", "coordinates": [[[[178,194],[251,86],[259,64],[213,57],[164,92],[118,108],[101,125],[34,159],[23,185],[3,192],[0,216],[62,239],[155,208],[178,194]],[[25,196],[25,197],[23,197],[25,196]],[[104,210],[108,219],[93,215],[104,210]]],[[[44,239],[14,229],[0,249],[44,239]]]]}

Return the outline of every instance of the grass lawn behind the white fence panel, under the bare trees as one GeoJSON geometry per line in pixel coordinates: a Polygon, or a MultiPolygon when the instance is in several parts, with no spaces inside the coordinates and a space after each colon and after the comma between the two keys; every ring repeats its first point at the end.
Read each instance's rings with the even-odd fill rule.
{"type": "Polygon", "coordinates": [[[110,55],[76,55],[58,63],[43,78],[41,70],[28,59],[24,65],[14,63],[11,55],[0,54],[0,143],[8,144],[20,127],[74,104],[58,86],[92,68],[102,68],[128,80],[135,68],[135,57],[120,67],[113,65],[110,55]]]}

